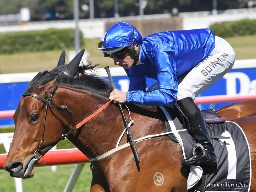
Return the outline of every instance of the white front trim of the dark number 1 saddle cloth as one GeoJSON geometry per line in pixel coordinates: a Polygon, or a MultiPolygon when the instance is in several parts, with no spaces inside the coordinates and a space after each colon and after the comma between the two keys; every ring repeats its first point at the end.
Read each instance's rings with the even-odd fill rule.
{"type": "MultiPolygon", "coordinates": [[[[171,127],[172,131],[177,131],[175,124],[172,121],[171,116],[169,115],[169,113],[167,112],[167,110],[163,107],[163,106],[159,106],[162,111],[164,112],[164,115],[166,116],[166,119],[171,127]]],[[[186,159],[185,156],[185,150],[183,147],[183,142],[182,139],[180,137],[180,134],[178,132],[173,133],[173,135],[176,137],[176,139],[178,140],[180,147],[182,148],[182,153],[183,153],[183,157],[184,159],[186,159]]],[[[196,166],[196,165],[191,165],[190,166],[190,170],[189,170],[189,174],[188,174],[188,180],[187,180],[187,190],[194,187],[196,185],[196,183],[201,179],[203,175],[203,169],[200,166],[196,166]]]]}

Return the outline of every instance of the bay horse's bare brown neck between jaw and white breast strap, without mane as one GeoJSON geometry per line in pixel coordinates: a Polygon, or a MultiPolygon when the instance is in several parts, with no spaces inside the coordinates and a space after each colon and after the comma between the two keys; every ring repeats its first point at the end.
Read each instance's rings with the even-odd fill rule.
{"type": "MultiPolygon", "coordinates": [[[[83,90],[58,89],[58,93],[63,98],[63,104],[72,112],[72,127],[108,102],[106,98],[83,90]]],[[[110,105],[70,135],[69,140],[86,156],[96,157],[115,148],[123,130],[119,109],[110,105]]]]}

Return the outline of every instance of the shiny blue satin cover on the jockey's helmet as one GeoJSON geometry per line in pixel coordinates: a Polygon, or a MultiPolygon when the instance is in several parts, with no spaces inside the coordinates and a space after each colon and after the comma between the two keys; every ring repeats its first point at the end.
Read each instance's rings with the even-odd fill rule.
{"type": "Polygon", "coordinates": [[[103,48],[101,51],[108,51],[117,49],[120,47],[129,47],[130,45],[139,45],[142,44],[142,36],[140,32],[125,22],[118,22],[108,29],[104,36],[103,48]],[[133,41],[132,40],[132,31],[134,28],[133,41]]]}

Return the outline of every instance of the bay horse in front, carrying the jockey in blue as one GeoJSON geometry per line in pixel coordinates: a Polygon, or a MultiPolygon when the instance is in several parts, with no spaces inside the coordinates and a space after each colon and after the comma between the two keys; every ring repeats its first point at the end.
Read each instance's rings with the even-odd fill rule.
{"type": "MultiPolygon", "coordinates": [[[[68,76],[60,75],[60,72],[66,72],[58,71],[58,68],[38,73],[22,95],[13,116],[15,130],[4,163],[4,169],[12,177],[32,177],[36,162],[63,139],[63,135],[89,158],[116,148],[124,124],[115,104],[110,103],[86,124],[74,129],[85,117],[109,103],[108,96],[112,91],[103,78],[88,74],[76,76],[79,62],[68,64],[69,72],[73,70],[68,76]]],[[[127,106],[130,114],[125,109],[124,113],[134,121],[131,126],[134,139],[165,132],[164,117],[154,108],[127,106]]],[[[256,191],[255,120],[255,114],[235,120],[243,128],[252,152],[252,192],[256,191]]],[[[126,139],[124,134],[120,145],[125,144],[126,139]]],[[[91,192],[186,191],[187,168],[180,164],[183,156],[179,144],[165,136],[136,143],[136,147],[140,155],[139,171],[131,148],[124,148],[100,161],[92,161],[91,192]],[[153,181],[157,172],[164,175],[161,186],[153,181]]]]}

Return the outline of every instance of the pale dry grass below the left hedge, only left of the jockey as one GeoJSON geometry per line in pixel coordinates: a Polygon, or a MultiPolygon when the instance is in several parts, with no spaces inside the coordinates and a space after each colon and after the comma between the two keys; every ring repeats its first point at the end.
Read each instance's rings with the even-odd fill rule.
{"type": "MultiPolygon", "coordinates": [[[[110,58],[103,57],[102,52],[98,50],[98,42],[100,39],[86,39],[85,50],[90,53],[88,60],[92,64],[101,65],[98,68],[105,66],[114,66],[114,62],[110,58]]],[[[73,49],[67,49],[66,62],[68,62],[68,52],[73,49]]],[[[8,55],[0,55],[0,73],[26,73],[51,70],[56,67],[62,50],[45,51],[45,52],[26,52],[8,55]]]]}

